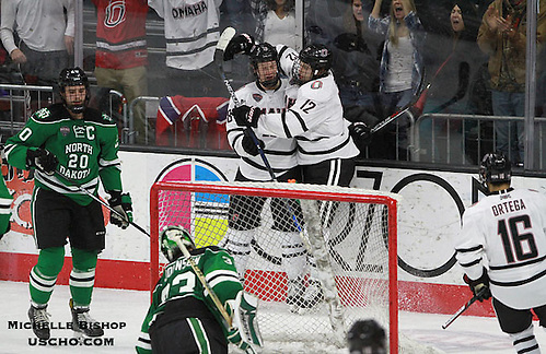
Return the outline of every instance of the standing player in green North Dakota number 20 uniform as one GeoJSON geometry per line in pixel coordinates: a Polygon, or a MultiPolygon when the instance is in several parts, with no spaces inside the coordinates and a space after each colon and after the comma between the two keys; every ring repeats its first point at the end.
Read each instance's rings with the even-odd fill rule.
{"type": "Polygon", "coordinates": [[[34,113],[25,127],[8,139],[8,163],[34,169],[31,202],[38,261],[31,270],[30,290],[33,331],[49,339],[47,303],[65,261],[70,241],[72,271],[69,302],[72,327],[90,337],[103,335],[89,315],[97,255],[104,249],[105,226],[101,204],[84,193],[97,194],[98,180],[109,196],[111,222],[126,228],[132,221],[129,193],[123,193],[118,139],[115,122],[89,108],[89,81],[80,68],[63,69],[59,76],[62,103],[34,113]]]}

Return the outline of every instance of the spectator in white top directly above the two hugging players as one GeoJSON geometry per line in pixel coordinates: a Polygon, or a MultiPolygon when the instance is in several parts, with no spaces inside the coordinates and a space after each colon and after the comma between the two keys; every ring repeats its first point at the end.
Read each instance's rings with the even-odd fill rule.
{"type": "Polygon", "coordinates": [[[294,0],[251,0],[251,8],[256,19],[257,42],[301,48],[295,32],[294,0]]]}

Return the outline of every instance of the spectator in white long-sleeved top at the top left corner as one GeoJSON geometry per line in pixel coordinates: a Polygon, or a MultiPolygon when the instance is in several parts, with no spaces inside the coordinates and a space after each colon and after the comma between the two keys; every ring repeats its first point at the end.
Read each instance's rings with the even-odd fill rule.
{"type": "Polygon", "coordinates": [[[73,54],[74,1],[3,0],[0,12],[2,44],[26,83],[54,85],[73,54]]]}

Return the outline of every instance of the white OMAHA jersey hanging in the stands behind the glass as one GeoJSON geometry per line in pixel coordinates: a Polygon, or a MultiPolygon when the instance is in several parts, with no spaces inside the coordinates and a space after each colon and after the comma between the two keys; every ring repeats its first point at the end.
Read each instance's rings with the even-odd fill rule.
{"type": "Polygon", "coordinates": [[[165,20],[167,67],[197,70],[212,62],[222,0],[148,0],[148,4],[165,20]]]}

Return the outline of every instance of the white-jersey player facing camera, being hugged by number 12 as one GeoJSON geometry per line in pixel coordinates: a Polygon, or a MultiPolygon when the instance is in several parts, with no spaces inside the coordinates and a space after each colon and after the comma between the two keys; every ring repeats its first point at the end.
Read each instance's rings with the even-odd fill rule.
{"type": "MultiPolygon", "coordinates": [[[[235,93],[239,102],[259,108],[263,113],[281,113],[286,110],[286,91],[289,86],[287,79],[280,79],[278,54],[274,46],[264,43],[254,46],[251,52],[251,64],[256,80],[235,93]]],[[[230,101],[228,116],[228,141],[240,156],[236,181],[270,181],[271,176],[259,156],[258,148],[248,134],[246,126],[237,125],[231,116],[235,108],[230,101]]],[[[293,138],[276,138],[257,134],[260,146],[268,160],[278,181],[293,179],[301,181],[301,172],[295,157],[297,145],[293,138]]],[[[266,199],[259,197],[233,196],[230,199],[228,232],[221,245],[235,259],[240,278],[244,278],[251,241],[255,236],[256,227],[260,226],[260,213],[266,199]]],[[[305,266],[305,248],[299,237],[298,228],[291,217],[291,212],[298,213],[302,220],[301,210],[295,201],[289,201],[290,211],[279,199],[270,203],[274,225],[269,237],[283,239],[283,268],[289,279],[287,303],[300,304],[303,302],[304,288],[299,279],[305,266]]]]}

